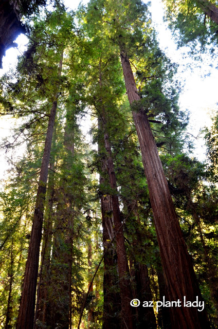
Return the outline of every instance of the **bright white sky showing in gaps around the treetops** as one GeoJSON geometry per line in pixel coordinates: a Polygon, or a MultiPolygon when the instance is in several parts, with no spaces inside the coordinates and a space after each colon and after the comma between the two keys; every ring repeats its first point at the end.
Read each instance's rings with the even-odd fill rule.
{"type": "MultiPolygon", "coordinates": [[[[65,0],[65,5],[70,9],[76,10],[79,1],[65,0]]],[[[82,3],[86,4],[84,0],[82,3]]],[[[210,116],[214,115],[217,109],[217,81],[218,70],[212,70],[209,77],[204,79],[202,69],[197,67],[197,63],[192,63],[191,59],[184,60],[182,53],[185,49],[177,50],[176,44],[173,41],[173,35],[167,28],[167,24],[163,23],[163,6],[161,0],[151,0],[150,10],[152,12],[153,24],[158,32],[158,40],[160,47],[165,50],[167,56],[176,63],[181,64],[178,68],[178,79],[184,84],[183,92],[179,97],[179,105],[182,110],[188,109],[190,112],[190,123],[188,133],[193,135],[195,142],[194,156],[199,160],[205,160],[206,148],[203,138],[199,138],[199,132],[204,126],[211,125],[210,116]],[[192,63],[192,69],[188,67],[188,63],[192,63]],[[186,67],[187,64],[187,67],[186,67]]],[[[20,35],[16,43],[19,44],[17,49],[11,48],[7,50],[6,57],[3,59],[3,69],[0,69],[0,75],[4,74],[10,67],[16,64],[17,55],[23,53],[28,39],[24,35],[20,35]]],[[[209,70],[204,67],[205,72],[209,70]]],[[[0,138],[11,134],[13,121],[11,119],[0,119],[0,138]]],[[[1,172],[3,174],[5,160],[1,156],[0,159],[1,172]]],[[[1,178],[1,173],[0,173],[1,178]]]]}

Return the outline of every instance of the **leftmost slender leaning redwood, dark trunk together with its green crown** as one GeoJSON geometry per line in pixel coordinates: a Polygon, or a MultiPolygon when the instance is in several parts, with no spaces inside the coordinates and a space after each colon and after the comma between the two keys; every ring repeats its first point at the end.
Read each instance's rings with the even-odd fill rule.
{"type": "MultiPolygon", "coordinates": [[[[41,58],[43,56],[48,56],[49,61],[46,62],[46,69],[50,71],[49,79],[46,82],[43,80],[42,76],[38,76],[41,81],[38,83],[39,93],[46,94],[45,90],[47,87],[47,93],[49,91],[49,100],[51,106],[51,111],[49,114],[47,133],[45,139],[45,147],[44,154],[42,158],[42,165],[40,170],[39,177],[39,185],[37,192],[37,200],[35,203],[30,244],[28,250],[28,258],[26,263],[25,275],[24,275],[24,284],[22,290],[21,304],[19,309],[19,316],[17,318],[16,328],[31,329],[33,327],[33,318],[34,318],[34,308],[35,308],[35,293],[37,288],[37,278],[38,278],[38,268],[39,268],[39,253],[40,253],[40,243],[42,237],[42,226],[43,226],[43,214],[44,214],[44,205],[45,205],[45,197],[46,197],[46,185],[47,185],[47,177],[48,177],[48,167],[49,167],[49,159],[50,159],[50,151],[51,151],[51,142],[53,135],[53,127],[54,120],[56,118],[57,112],[57,103],[60,95],[61,86],[61,71],[62,71],[62,61],[63,61],[63,49],[64,44],[66,43],[65,35],[66,31],[69,28],[71,22],[67,20],[64,9],[59,7],[57,11],[54,11],[52,15],[47,16],[47,20],[45,22],[38,23],[38,26],[35,30],[33,30],[33,39],[31,41],[31,46],[29,47],[29,53],[27,52],[26,63],[24,62],[24,69],[28,71],[31,69],[31,66],[35,65],[39,67],[41,64],[41,58]],[[64,21],[65,20],[65,21],[64,21]],[[56,31],[52,29],[54,23],[59,23],[56,26],[56,31]],[[64,24],[65,23],[65,24],[64,24]],[[61,25],[61,28],[60,28],[61,25]],[[40,40],[42,42],[41,45],[37,47],[36,44],[40,44],[40,42],[36,42],[35,39],[37,37],[40,39],[44,37],[43,29],[46,36],[50,36],[50,39],[40,40]],[[57,34],[57,32],[59,34],[57,34]],[[42,33],[42,34],[41,34],[42,33]],[[56,46],[56,49],[50,48],[48,45],[49,42],[53,42],[53,45],[56,46]],[[43,52],[44,51],[44,52],[43,52]],[[57,52],[58,51],[58,52],[57,52]],[[35,53],[37,54],[38,62],[34,64],[36,61],[35,53]],[[43,55],[42,55],[42,53],[43,55]],[[55,61],[59,58],[59,65],[55,61]],[[53,62],[52,62],[53,61],[53,62]],[[58,66],[58,67],[57,67],[58,66]],[[52,75],[51,75],[52,69],[52,75]],[[49,85],[51,83],[52,87],[49,85]],[[40,87],[41,88],[40,88],[40,87]]],[[[72,25],[71,25],[72,27],[72,25]]],[[[38,40],[39,40],[38,39],[38,40]]],[[[44,73],[46,69],[43,68],[44,73]]],[[[29,72],[28,72],[29,73],[29,72]]],[[[33,74],[33,72],[31,72],[33,74]]],[[[37,91],[38,91],[37,90],[37,91]]],[[[46,95],[46,96],[47,96],[46,95]]],[[[40,98],[40,96],[38,96],[40,98]]],[[[37,98],[37,96],[36,96],[37,98]]]]}

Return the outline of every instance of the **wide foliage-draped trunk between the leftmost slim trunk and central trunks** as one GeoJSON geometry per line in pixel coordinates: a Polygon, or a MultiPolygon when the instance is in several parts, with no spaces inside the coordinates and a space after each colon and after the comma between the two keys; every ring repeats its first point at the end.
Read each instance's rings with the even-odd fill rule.
{"type": "MultiPolygon", "coordinates": [[[[68,111],[68,109],[67,109],[68,111]]],[[[74,116],[73,116],[74,120],[74,116]]],[[[69,129],[68,120],[64,131],[65,169],[60,181],[56,220],[54,220],[53,248],[49,281],[49,294],[43,324],[50,327],[72,328],[71,285],[72,245],[74,240],[74,191],[69,190],[69,172],[74,157],[74,130],[69,129]],[[55,273],[55,274],[54,274],[55,273]]]]}

